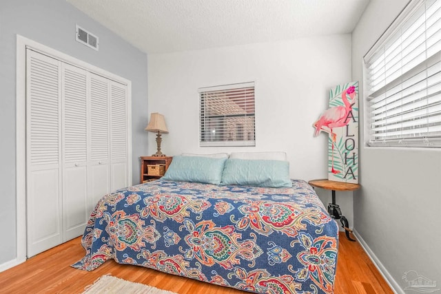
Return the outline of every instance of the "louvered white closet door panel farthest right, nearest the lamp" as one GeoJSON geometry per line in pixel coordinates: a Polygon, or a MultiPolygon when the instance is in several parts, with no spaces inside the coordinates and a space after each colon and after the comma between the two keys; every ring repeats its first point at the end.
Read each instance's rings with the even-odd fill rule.
{"type": "Polygon", "coordinates": [[[111,189],[128,186],[127,86],[110,82],[111,189]]]}

